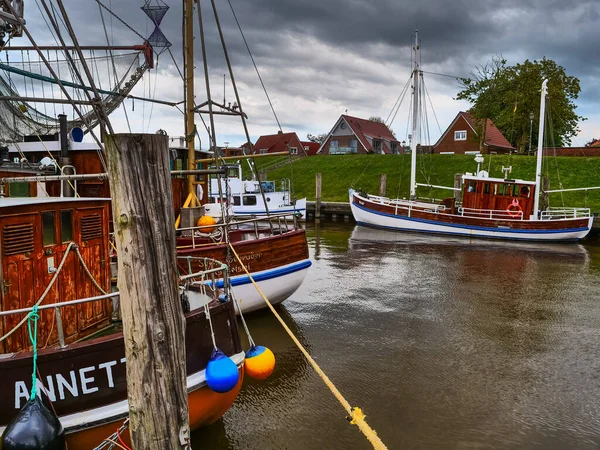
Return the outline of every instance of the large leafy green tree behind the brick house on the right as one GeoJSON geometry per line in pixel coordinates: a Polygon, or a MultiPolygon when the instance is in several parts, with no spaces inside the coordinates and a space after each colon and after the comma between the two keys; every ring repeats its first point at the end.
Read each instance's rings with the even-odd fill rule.
{"type": "Polygon", "coordinates": [[[581,91],[579,79],[567,75],[564,67],[545,57],[540,61],[526,60],[509,66],[504,58],[497,56],[485,66],[477,67],[471,75],[471,78],[460,79],[462,90],[456,98],[473,105],[470,112],[479,119],[479,128],[484,119],[492,119],[520,151],[528,146],[532,123],[532,145],[537,143],[540,87],[546,78],[548,100],[544,145],[570,144],[579,131],[579,121],[586,120],[575,112],[574,100],[581,91]]]}

